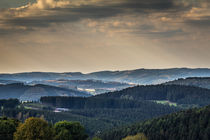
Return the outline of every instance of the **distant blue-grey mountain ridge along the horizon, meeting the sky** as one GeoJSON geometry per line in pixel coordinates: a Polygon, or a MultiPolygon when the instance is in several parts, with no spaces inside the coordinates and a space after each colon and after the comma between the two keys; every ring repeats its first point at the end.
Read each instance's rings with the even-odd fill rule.
{"type": "Polygon", "coordinates": [[[2,80],[17,81],[39,81],[39,80],[104,80],[117,81],[136,84],[160,84],[178,78],[186,77],[210,77],[210,69],[208,68],[171,68],[171,69],[136,69],[126,71],[99,71],[88,74],[80,72],[70,73],[53,73],[53,72],[31,72],[17,74],[0,74],[2,80]]]}

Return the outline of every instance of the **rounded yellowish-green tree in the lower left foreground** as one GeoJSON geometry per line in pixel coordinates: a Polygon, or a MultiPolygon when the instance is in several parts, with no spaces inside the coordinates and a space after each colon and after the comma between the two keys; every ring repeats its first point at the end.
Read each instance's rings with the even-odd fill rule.
{"type": "Polygon", "coordinates": [[[14,140],[51,140],[53,130],[48,123],[40,118],[28,118],[14,134],[14,140]]]}

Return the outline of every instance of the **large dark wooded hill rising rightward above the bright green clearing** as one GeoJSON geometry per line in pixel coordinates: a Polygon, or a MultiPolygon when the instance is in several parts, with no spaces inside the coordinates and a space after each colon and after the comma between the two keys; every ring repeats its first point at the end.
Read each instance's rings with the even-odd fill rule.
{"type": "Polygon", "coordinates": [[[181,85],[147,85],[97,95],[91,98],[117,98],[129,100],[168,100],[178,104],[210,104],[210,90],[181,85]]]}

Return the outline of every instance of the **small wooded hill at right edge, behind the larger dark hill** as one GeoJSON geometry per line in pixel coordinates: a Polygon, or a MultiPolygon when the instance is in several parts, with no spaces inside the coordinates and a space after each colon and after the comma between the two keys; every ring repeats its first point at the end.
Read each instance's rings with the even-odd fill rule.
{"type": "Polygon", "coordinates": [[[180,78],[174,81],[166,82],[165,85],[186,85],[210,89],[210,77],[180,78]]]}

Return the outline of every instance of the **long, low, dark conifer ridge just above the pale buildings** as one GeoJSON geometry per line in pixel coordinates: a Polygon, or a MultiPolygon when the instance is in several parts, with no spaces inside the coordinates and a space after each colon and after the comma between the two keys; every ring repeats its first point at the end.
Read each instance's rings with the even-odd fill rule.
{"type": "MultiPolygon", "coordinates": [[[[84,98],[84,97],[41,97],[41,103],[58,108],[69,109],[149,109],[168,110],[169,106],[156,104],[149,101],[135,101],[114,98],[84,98]]],[[[172,108],[173,109],[173,108],[172,108]]],[[[170,110],[170,109],[169,109],[170,110]]]]}

